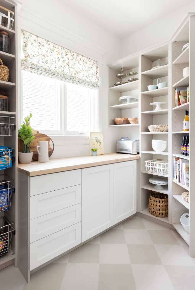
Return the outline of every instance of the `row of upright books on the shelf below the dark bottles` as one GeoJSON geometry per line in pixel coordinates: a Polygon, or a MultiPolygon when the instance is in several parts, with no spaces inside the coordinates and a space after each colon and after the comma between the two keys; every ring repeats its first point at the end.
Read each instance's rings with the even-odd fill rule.
{"type": "Polygon", "coordinates": [[[189,186],[189,160],[173,158],[173,180],[189,186]]]}

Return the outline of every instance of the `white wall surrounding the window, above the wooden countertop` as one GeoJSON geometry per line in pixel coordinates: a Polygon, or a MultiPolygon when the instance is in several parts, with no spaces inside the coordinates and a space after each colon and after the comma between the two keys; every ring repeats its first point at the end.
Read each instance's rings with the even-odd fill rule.
{"type": "MultiPolygon", "coordinates": [[[[108,67],[106,64],[121,58],[121,40],[66,6],[62,1],[56,0],[55,5],[53,3],[53,0],[22,1],[22,8],[18,15],[18,26],[103,63],[102,65],[100,64],[100,70],[102,71],[102,83],[100,84],[100,130],[104,134],[105,153],[115,152],[116,140],[120,138],[120,129],[108,127],[108,67]],[[45,27],[41,26],[44,21],[49,29],[47,29],[47,25],[45,27]],[[56,28],[55,26],[53,31],[51,31],[52,23],[59,27],[56,28]],[[70,37],[68,35],[69,32],[71,33],[70,37]],[[77,36],[80,38],[79,41],[77,41],[77,36]],[[105,50],[103,56],[98,52],[98,47],[105,50]]],[[[78,138],[55,138],[53,141],[55,148],[52,158],[89,154],[88,140],[86,138],[81,137],[79,140],[78,138]]]]}

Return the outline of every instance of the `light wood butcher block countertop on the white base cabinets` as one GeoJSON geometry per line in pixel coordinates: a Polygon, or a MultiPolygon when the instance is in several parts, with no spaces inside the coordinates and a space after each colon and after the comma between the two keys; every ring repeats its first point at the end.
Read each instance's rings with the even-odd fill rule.
{"type": "Polygon", "coordinates": [[[62,172],[74,169],[106,165],[124,161],[139,159],[139,154],[107,153],[97,156],[76,156],[66,158],[49,159],[49,162],[40,163],[38,161],[29,164],[18,163],[18,172],[28,176],[38,176],[55,172],[62,172]]]}

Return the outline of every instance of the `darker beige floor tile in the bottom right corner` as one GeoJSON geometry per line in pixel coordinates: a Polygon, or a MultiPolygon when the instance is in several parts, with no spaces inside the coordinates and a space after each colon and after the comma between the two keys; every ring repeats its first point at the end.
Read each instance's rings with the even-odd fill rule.
{"type": "Polygon", "coordinates": [[[175,290],[195,289],[195,266],[164,266],[175,290]]]}

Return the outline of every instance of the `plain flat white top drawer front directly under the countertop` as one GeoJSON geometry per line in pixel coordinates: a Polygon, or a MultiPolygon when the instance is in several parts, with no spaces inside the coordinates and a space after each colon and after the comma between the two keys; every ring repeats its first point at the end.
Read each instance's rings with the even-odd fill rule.
{"type": "Polygon", "coordinates": [[[81,169],[30,177],[30,195],[81,184],[81,169]]]}

